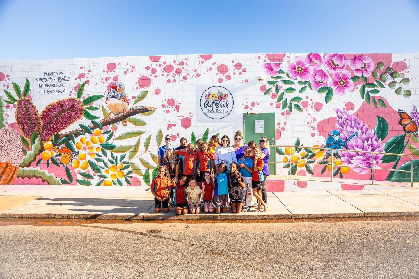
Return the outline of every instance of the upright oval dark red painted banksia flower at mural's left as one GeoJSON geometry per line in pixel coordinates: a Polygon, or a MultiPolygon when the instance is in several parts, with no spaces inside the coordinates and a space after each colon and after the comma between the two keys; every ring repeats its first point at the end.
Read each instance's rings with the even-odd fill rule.
{"type": "Polygon", "coordinates": [[[39,136],[41,131],[41,116],[34,103],[28,98],[21,98],[16,105],[16,123],[26,139],[30,139],[36,132],[39,136]]]}

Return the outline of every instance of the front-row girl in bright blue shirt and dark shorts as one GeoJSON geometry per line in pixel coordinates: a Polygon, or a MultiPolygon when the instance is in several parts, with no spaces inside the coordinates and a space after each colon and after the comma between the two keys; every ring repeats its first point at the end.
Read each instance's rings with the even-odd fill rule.
{"type": "Polygon", "coordinates": [[[228,174],[227,166],[225,163],[218,164],[218,173],[214,179],[215,189],[212,198],[212,206],[215,208],[215,212],[220,214],[220,207],[222,213],[227,212],[228,206],[228,174]]]}

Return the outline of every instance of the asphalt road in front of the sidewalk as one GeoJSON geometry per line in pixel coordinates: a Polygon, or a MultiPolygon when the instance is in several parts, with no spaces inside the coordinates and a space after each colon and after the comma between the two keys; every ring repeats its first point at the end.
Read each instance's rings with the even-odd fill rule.
{"type": "Polygon", "coordinates": [[[419,278],[419,221],[1,225],[0,278],[419,278]]]}

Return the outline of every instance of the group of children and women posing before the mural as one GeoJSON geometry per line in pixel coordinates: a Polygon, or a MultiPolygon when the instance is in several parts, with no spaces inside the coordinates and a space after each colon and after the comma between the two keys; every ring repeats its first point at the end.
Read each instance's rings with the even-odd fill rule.
{"type": "Polygon", "coordinates": [[[151,183],[154,211],[176,214],[227,212],[230,204],[233,213],[249,211],[266,212],[266,177],[269,175],[269,142],[265,136],[244,144],[243,134],[237,131],[234,144],[228,136],[212,136],[209,143],[198,139],[196,148],[181,138],[180,146],[171,146],[171,136],[166,135],[165,145],[158,149],[158,176],[151,183]],[[256,203],[252,205],[252,197],[256,203]],[[203,203],[203,206],[202,206],[203,203]]]}

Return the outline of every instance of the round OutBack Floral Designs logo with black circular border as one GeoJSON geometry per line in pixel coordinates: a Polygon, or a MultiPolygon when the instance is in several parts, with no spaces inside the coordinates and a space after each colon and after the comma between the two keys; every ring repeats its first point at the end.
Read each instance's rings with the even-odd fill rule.
{"type": "Polygon", "coordinates": [[[233,110],[234,100],[230,91],[222,86],[212,86],[201,95],[201,110],[212,119],[222,119],[233,110]]]}

